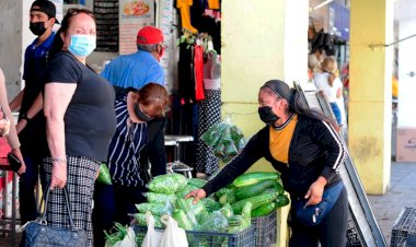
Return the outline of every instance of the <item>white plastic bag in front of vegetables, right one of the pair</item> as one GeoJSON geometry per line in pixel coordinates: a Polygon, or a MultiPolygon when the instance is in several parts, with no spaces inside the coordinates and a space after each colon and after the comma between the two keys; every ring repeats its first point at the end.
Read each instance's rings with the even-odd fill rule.
{"type": "Polygon", "coordinates": [[[188,247],[185,230],[177,226],[177,222],[169,215],[162,216],[163,223],[165,216],[167,216],[166,228],[158,247],[188,247]]]}

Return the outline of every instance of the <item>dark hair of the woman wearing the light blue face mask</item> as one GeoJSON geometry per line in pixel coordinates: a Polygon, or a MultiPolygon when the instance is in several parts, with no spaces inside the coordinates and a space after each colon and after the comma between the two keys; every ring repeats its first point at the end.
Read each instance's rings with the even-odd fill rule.
{"type": "Polygon", "coordinates": [[[60,37],[60,34],[66,33],[68,31],[69,25],[71,24],[72,17],[79,13],[88,14],[95,21],[94,13],[86,10],[86,9],[78,9],[78,8],[68,9],[67,14],[63,16],[62,22],[60,23],[60,28],[58,30],[58,32],[55,35],[54,43],[53,43],[50,50],[49,50],[50,57],[53,57],[54,55],[56,55],[57,52],[59,52],[62,49],[63,40],[60,37]]]}

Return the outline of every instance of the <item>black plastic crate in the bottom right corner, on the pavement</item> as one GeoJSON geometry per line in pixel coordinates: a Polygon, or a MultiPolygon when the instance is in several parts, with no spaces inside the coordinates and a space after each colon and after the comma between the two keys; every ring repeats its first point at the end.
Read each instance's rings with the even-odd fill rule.
{"type": "Polygon", "coordinates": [[[416,209],[404,207],[393,224],[391,247],[406,247],[407,236],[416,235],[416,209]]]}

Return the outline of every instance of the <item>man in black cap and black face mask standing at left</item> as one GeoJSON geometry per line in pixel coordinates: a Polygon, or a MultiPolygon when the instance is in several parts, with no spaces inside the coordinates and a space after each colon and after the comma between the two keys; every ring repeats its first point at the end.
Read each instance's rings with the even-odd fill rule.
{"type": "Polygon", "coordinates": [[[20,215],[22,224],[37,216],[35,186],[41,174],[45,186],[45,172],[42,158],[46,152],[45,117],[42,113],[42,90],[45,84],[45,71],[55,33],[55,4],[47,0],[36,0],[30,11],[30,30],[37,37],[27,46],[24,55],[24,89],[10,103],[10,108],[20,108],[16,130],[22,143],[22,153],[26,173],[19,180],[20,215]]]}

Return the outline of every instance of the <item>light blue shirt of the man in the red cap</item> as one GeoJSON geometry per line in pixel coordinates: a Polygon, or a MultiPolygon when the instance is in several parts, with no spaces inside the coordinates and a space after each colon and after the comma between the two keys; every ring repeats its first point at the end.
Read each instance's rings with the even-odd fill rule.
{"type": "Polygon", "coordinates": [[[119,87],[140,90],[150,82],[164,85],[164,70],[150,52],[122,55],[109,62],[102,77],[119,87]]]}

